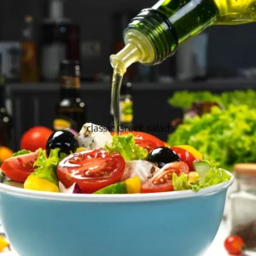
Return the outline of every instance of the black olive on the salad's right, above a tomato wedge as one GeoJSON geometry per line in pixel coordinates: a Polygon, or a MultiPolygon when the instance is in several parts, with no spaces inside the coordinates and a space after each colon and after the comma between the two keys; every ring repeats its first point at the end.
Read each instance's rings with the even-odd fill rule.
{"type": "Polygon", "coordinates": [[[160,147],[151,150],[147,160],[162,168],[168,163],[179,162],[180,158],[171,148],[160,147]]]}

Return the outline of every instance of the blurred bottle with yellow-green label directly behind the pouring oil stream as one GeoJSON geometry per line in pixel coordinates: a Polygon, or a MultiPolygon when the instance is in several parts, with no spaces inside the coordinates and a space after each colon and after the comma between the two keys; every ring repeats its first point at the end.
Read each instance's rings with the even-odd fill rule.
{"type": "MultiPolygon", "coordinates": [[[[120,131],[133,131],[133,99],[131,82],[128,79],[123,79],[120,98],[119,98],[119,113],[120,113],[120,131]]],[[[113,131],[113,108],[110,106],[111,130],[113,131]]]]}

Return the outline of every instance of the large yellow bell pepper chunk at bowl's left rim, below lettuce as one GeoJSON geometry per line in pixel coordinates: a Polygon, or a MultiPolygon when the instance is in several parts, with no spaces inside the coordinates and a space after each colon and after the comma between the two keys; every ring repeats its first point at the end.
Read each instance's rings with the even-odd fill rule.
{"type": "Polygon", "coordinates": [[[26,178],[26,182],[24,183],[24,189],[56,193],[60,192],[59,188],[55,185],[55,183],[50,183],[48,180],[42,177],[36,177],[33,174],[26,178]]]}

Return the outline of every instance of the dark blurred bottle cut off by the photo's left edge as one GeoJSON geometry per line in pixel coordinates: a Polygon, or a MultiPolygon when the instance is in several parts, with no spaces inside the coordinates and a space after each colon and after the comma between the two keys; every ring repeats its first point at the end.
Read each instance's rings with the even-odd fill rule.
{"type": "Polygon", "coordinates": [[[10,148],[12,139],[12,119],[6,106],[5,77],[2,72],[2,55],[0,55],[0,147],[10,148]]]}

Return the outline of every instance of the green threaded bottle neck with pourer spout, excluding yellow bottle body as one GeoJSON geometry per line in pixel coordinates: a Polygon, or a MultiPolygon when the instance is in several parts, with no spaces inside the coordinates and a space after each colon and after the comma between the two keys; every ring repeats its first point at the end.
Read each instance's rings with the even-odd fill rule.
{"type": "Polygon", "coordinates": [[[111,64],[119,73],[137,61],[159,64],[175,54],[179,44],[212,25],[217,17],[218,7],[213,1],[160,1],[131,20],[125,30],[126,46],[117,55],[111,55],[111,64]]]}

